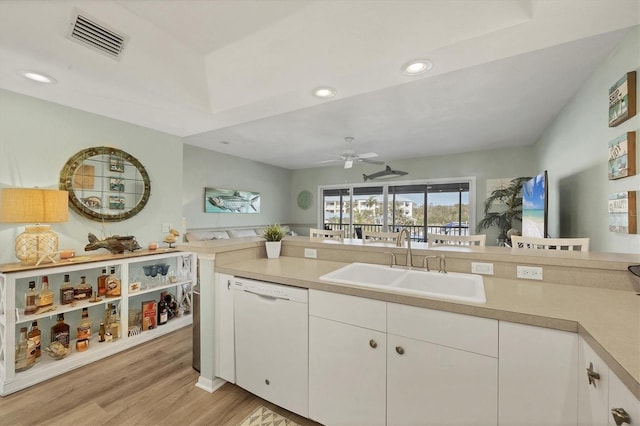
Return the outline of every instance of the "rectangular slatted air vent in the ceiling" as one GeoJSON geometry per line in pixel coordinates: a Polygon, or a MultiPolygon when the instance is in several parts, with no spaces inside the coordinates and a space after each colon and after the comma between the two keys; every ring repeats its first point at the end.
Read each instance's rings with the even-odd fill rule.
{"type": "Polygon", "coordinates": [[[118,34],[107,25],[76,11],[68,38],[113,59],[120,59],[129,36],[118,34]]]}

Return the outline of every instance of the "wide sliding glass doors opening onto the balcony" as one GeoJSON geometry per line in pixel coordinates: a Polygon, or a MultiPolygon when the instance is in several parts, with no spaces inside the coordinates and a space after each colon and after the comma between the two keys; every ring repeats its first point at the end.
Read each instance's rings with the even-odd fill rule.
{"type": "Polygon", "coordinates": [[[351,238],[359,238],[362,230],[399,232],[406,228],[414,241],[424,241],[427,233],[469,235],[473,228],[473,177],[320,187],[320,191],[320,225],[345,229],[351,238]]]}

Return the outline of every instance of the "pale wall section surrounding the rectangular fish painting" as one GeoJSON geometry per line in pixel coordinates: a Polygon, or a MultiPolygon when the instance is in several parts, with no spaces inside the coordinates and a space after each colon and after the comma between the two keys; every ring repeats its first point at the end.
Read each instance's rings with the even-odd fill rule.
{"type": "Polygon", "coordinates": [[[182,205],[189,229],[287,223],[291,171],[184,145],[182,205]],[[260,213],[205,213],[204,188],[260,193],[260,213]]]}

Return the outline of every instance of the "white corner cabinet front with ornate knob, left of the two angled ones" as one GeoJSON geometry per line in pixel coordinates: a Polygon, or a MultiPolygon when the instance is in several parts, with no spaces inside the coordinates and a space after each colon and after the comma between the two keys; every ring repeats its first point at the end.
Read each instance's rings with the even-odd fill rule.
{"type": "Polygon", "coordinates": [[[609,411],[609,367],[584,341],[579,339],[578,353],[578,424],[603,426],[609,411]],[[587,369],[591,371],[591,383],[587,369]]]}

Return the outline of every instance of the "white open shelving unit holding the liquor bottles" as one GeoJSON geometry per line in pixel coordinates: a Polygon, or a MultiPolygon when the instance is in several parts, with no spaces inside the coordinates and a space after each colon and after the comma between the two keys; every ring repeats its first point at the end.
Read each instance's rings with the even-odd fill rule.
{"type": "MultiPolygon", "coordinates": [[[[155,252],[137,251],[128,255],[99,254],[83,256],[67,262],[45,264],[39,266],[14,266],[13,264],[0,267],[0,394],[7,395],[24,389],[36,383],[64,374],[83,365],[103,359],[125,349],[155,339],[161,335],[175,331],[192,322],[191,303],[192,286],[196,278],[196,256],[193,253],[161,250],[155,252]],[[143,266],[168,264],[166,276],[157,274],[147,277],[143,266]],[[60,286],[64,275],[70,275],[71,283],[77,284],[81,277],[91,284],[93,291],[97,291],[96,281],[103,268],[107,273],[111,268],[120,279],[121,294],[119,297],[106,298],[90,302],[77,300],[73,304],[61,304],[60,286]],[[29,281],[36,281],[39,285],[41,277],[47,276],[50,289],[54,293],[54,310],[36,312],[25,315],[24,295],[29,281]],[[171,279],[170,279],[171,278],[171,279]],[[149,282],[149,284],[147,284],[149,282]],[[137,284],[136,284],[137,283],[137,284]],[[142,283],[142,285],[140,285],[142,283]],[[131,285],[131,286],[130,286],[131,285]],[[142,302],[159,301],[161,292],[171,293],[177,303],[183,307],[179,315],[170,319],[166,324],[157,325],[153,329],[140,330],[142,302]],[[98,330],[103,320],[105,306],[112,303],[120,312],[121,337],[111,342],[98,342],[98,330]],[[88,308],[92,322],[92,336],[89,349],[83,352],[75,350],[76,327],[81,320],[82,308],[88,308]],[[131,313],[131,315],[129,315],[131,313]],[[15,344],[21,327],[28,327],[37,320],[42,331],[42,347],[50,341],[50,328],[56,322],[57,314],[64,314],[65,323],[69,325],[71,353],[61,360],[50,359],[42,351],[36,364],[21,372],[16,372],[15,344]]],[[[132,366],[135,368],[135,366],[132,366]]]]}

